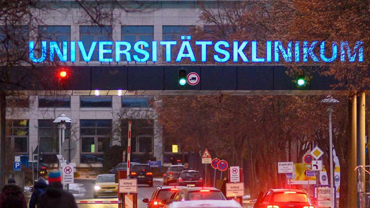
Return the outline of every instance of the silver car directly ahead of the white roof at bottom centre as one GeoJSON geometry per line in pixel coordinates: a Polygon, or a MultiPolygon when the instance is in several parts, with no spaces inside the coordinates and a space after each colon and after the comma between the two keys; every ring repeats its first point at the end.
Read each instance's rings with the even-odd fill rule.
{"type": "Polygon", "coordinates": [[[192,201],[192,200],[226,200],[225,195],[215,187],[186,187],[179,188],[171,197],[168,198],[163,208],[168,206],[175,201],[192,201]]]}

